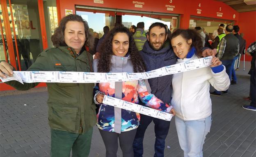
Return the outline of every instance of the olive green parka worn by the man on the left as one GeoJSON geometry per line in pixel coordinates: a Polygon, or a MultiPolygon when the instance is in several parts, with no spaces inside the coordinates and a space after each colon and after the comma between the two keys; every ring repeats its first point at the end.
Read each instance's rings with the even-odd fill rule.
{"type": "MultiPolygon", "coordinates": [[[[78,56],[71,47],[56,47],[43,51],[27,71],[92,72],[92,55],[83,51],[78,56]]],[[[29,90],[38,83],[9,81],[17,90],[29,90]]],[[[96,124],[93,103],[94,83],[46,83],[49,99],[50,128],[85,133],[96,124]]],[[[36,102],[35,102],[36,103],[36,102]]]]}

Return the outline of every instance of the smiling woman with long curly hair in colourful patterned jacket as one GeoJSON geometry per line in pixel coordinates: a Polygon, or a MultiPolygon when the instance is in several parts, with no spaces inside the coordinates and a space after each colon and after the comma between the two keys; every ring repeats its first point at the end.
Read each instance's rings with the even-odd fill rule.
{"type": "MultiPolygon", "coordinates": [[[[144,72],[145,65],[138,53],[132,34],[126,27],[115,27],[93,62],[94,72],[144,72]]],[[[106,148],[106,157],[116,157],[118,138],[123,157],[133,157],[133,139],[139,125],[139,113],[102,104],[104,95],[138,103],[139,98],[151,108],[175,114],[172,106],[150,93],[147,80],[97,83],[94,102],[100,105],[96,126],[106,148]]]]}

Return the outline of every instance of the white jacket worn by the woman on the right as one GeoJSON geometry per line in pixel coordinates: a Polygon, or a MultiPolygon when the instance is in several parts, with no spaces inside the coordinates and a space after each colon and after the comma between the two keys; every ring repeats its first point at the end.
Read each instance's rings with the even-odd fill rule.
{"type": "MultiPolygon", "coordinates": [[[[195,54],[191,58],[178,59],[177,63],[194,59],[198,59],[195,54]]],[[[171,105],[176,116],[185,121],[209,117],[212,113],[210,84],[219,91],[229,88],[230,80],[225,67],[219,73],[214,73],[210,67],[203,67],[174,74],[171,105]]]]}

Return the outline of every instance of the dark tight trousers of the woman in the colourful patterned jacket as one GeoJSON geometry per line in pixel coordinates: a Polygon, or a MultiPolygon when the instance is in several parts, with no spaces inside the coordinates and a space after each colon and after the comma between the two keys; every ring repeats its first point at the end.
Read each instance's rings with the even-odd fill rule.
{"type": "Polygon", "coordinates": [[[118,139],[123,152],[123,157],[133,157],[133,139],[137,129],[121,132],[121,134],[101,129],[99,130],[105,144],[106,157],[117,157],[118,139]]]}

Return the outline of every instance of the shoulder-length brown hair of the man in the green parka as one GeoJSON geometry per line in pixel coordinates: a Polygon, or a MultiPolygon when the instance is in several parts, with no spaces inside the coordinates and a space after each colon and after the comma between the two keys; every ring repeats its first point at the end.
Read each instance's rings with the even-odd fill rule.
{"type": "Polygon", "coordinates": [[[52,35],[52,42],[53,45],[55,47],[59,47],[59,46],[67,46],[64,40],[64,31],[66,29],[66,23],[69,21],[77,21],[77,22],[82,22],[84,24],[85,27],[85,37],[86,37],[86,41],[85,44],[83,45],[83,48],[85,48],[85,46],[89,47],[89,49],[93,49],[94,47],[94,37],[92,36],[92,34],[89,32],[89,26],[88,23],[82,19],[81,16],[79,15],[74,15],[74,14],[70,14],[68,16],[65,16],[64,18],[62,18],[59,22],[59,27],[57,27],[54,30],[54,34],[52,35]]]}

